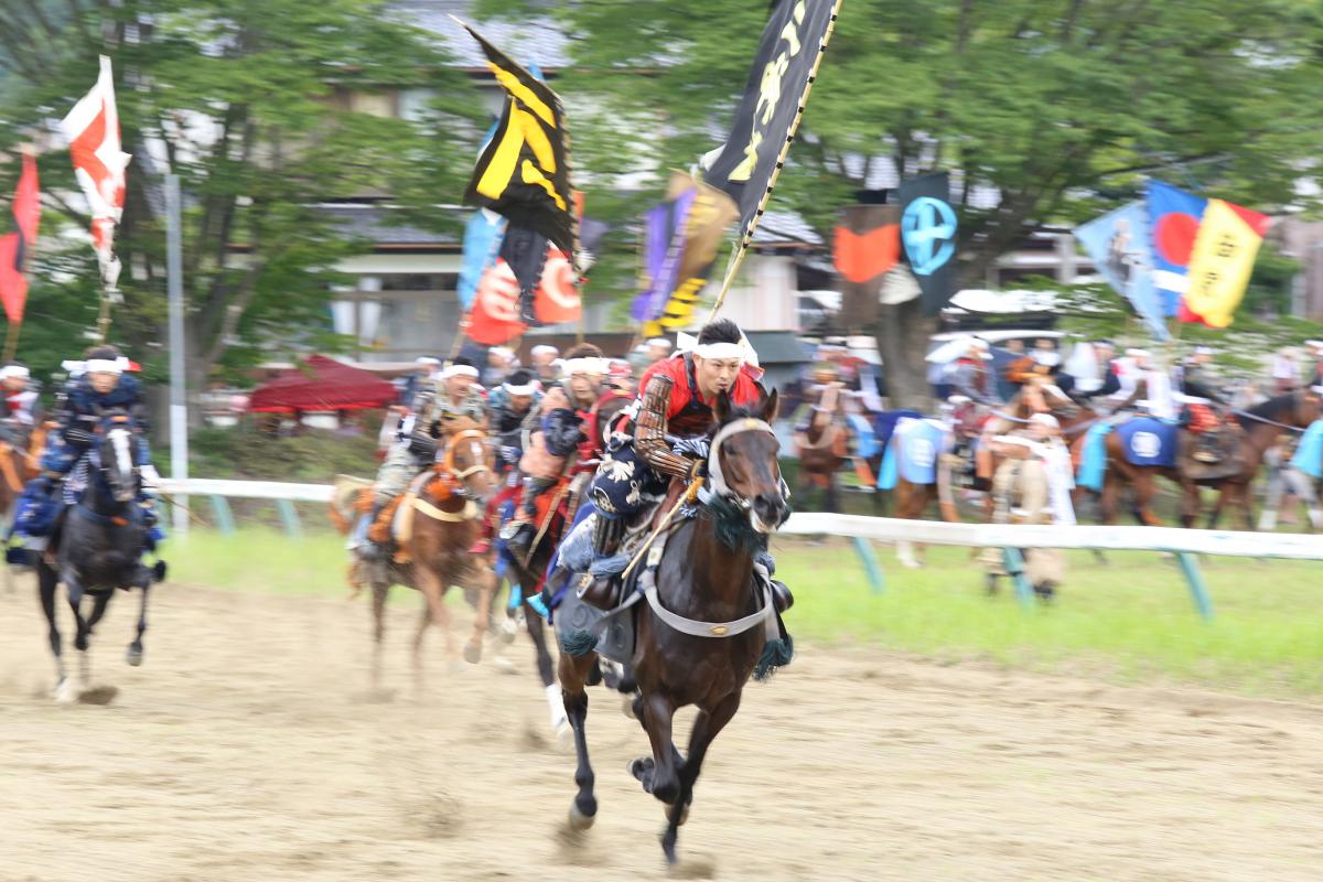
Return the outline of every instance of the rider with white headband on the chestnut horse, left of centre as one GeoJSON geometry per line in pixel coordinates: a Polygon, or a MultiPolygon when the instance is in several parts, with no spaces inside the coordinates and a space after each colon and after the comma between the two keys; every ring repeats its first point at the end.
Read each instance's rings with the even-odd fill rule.
{"type": "Polygon", "coordinates": [[[463,356],[430,381],[419,383],[409,414],[400,423],[396,443],[377,471],[372,509],[359,522],[349,541],[349,547],[360,550],[364,558],[385,557],[385,543],[370,541],[368,530],[381,512],[405,492],[409,481],[437,461],[445,448],[445,422],[452,417],[467,417],[479,426],[486,426],[487,422],[487,399],[478,385],[478,368],[463,356]]]}

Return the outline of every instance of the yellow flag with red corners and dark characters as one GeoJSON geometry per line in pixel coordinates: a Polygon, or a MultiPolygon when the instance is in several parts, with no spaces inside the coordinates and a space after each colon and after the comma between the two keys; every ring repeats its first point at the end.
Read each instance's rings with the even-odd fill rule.
{"type": "Polygon", "coordinates": [[[1225,200],[1208,200],[1189,255],[1180,320],[1225,328],[1245,296],[1269,218],[1225,200]]]}

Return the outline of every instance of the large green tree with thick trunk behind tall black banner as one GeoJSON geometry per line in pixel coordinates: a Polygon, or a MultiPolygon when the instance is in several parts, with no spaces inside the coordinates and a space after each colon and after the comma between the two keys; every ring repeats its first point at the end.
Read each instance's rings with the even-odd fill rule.
{"type": "MultiPolygon", "coordinates": [[[[560,4],[577,66],[558,89],[634,134],[603,167],[644,157],[658,192],[667,168],[710,149],[765,13],[761,0],[560,4]]],[[[1320,42],[1323,7],[1294,0],[847,0],[773,208],[828,234],[884,167],[950,169],[962,276],[976,283],[1028,233],[1114,208],[1147,175],[1285,205],[1323,132],[1320,42]]],[[[898,406],[925,403],[930,331],[913,305],[884,308],[898,406]]]]}

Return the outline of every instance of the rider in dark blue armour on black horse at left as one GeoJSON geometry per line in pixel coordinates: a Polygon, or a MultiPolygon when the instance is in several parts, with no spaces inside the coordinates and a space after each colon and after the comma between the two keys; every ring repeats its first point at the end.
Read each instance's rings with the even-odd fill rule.
{"type": "Polygon", "coordinates": [[[144,485],[139,489],[147,532],[147,550],[164,538],[156,525],[153,497],[147,491],[156,477],[147,444],[147,410],[142,401],[142,385],[135,377],[124,376],[128,360],[115,346],[94,346],[81,365],[82,373],[65,385],[56,401],[56,430],[46,440],[41,456],[42,473],[30,480],[19,497],[12,536],[29,543],[36,533],[45,533],[60,510],[58,501],[77,501],[77,495],[87,480],[87,456],[95,444],[101,421],[108,411],[126,414],[135,428],[138,440],[134,465],[140,469],[144,485]],[[82,465],[82,468],[78,468],[82,465]],[[36,532],[36,533],[34,533],[36,532]]]}

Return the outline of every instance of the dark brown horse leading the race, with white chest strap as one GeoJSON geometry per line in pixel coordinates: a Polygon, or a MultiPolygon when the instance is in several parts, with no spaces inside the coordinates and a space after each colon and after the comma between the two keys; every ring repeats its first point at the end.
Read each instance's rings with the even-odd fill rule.
{"type": "MultiPolygon", "coordinates": [[[[667,807],[662,848],[671,863],[708,747],[738,710],[750,674],[767,661],[765,649],[783,652],[782,662],[789,660],[786,643],[765,643],[763,625],[775,612],[754,574],[755,554],[789,513],[777,463],[779,444],[769,424],[777,414],[777,393],[755,410],[732,409],[729,398],[721,395],[714,413],[709,496],[697,517],[669,534],[655,571],[642,577],[651,587],[635,614],[631,668],[639,696],[634,709],[652,756],[634,760],[630,770],[667,807]],[[676,709],[688,705],[699,713],[688,756],[681,756],[671,727],[676,709]]],[[[597,815],[585,735],[585,686],[595,666],[594,652],[570,655],[562,641],[558,673],[578,755],[578,795],[570,805],[574,830],[591,826],[597,815]]]]}

